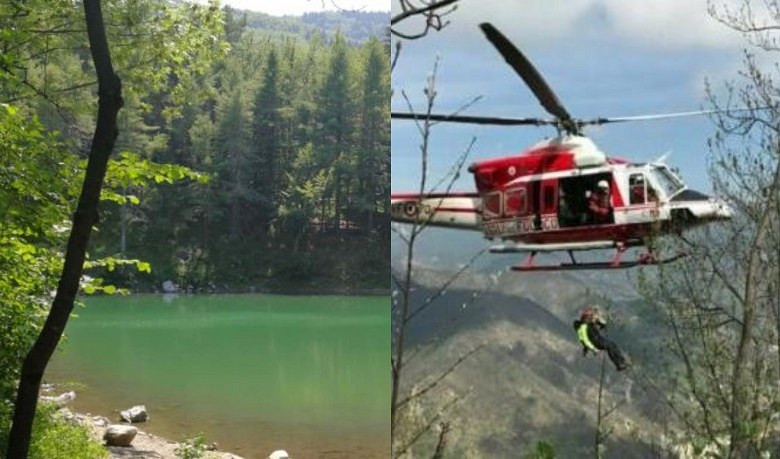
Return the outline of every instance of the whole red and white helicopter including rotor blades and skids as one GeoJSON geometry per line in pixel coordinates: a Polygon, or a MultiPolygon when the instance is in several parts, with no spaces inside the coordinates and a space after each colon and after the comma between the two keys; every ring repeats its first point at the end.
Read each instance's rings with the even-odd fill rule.
{"type": "MultiPolygon", "coordinates": [[[[688,189],[663,160],[632,163],[608,157],[582,128],[607,123],[711,113],[686,112],[620,118],[572,118],[528,59],[490,24],[480,25],[490,42],[517,72],[553,119],[429,115],[431,121],[501,126],[551,125],[558,136],[523,153],[478,161],[469,167],[476,192],[392,194],[392,220],[482,231],[504,244],[493,253],[526,252],[519,271],[627,268],[673,261],[677,254],[656,258],[653,237],[731,218],[722,200],[688,189]],[[599,188],[602,188],[599,190],[599,188]],[[608,192],[609,212],[591,214],[591,193],[608,192]],[[629,247],[645,247],[634,260],[623,261],[629,247]],[[575,251],[615,249],[606,262],[582,263],[575,251]],[[567,251],[570,262],[538,265],[538,252],[567,251]]],[[[392,113],[396,119],[420,115],[392,113]]]]}

